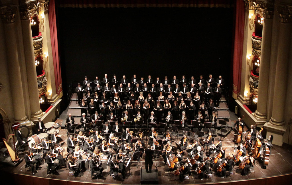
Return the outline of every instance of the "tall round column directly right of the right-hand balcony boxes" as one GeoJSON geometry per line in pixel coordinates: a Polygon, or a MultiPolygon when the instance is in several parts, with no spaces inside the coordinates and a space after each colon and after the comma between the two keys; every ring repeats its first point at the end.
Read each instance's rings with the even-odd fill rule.
{"type": "Polygon", "coordinates": [[[274,0],[265,2],[263,12],[263,36],[260,56],[260,73],[258,83],[258,104],[255,116],[267,119],[267,93],[269,83],[270,54],[272,41],[272,25],[274,17],[274,0]]]}

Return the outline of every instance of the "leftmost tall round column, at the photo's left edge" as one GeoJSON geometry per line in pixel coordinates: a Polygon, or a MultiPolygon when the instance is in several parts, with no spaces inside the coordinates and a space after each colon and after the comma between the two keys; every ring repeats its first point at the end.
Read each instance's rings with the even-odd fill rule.
{"type": "Polygon", "coordinates": [[[17,40],[15,34],[14,18],[17,13],[17,6],[1,7],[1,19],[4,23],[6,50],[8,56],[8,70],[11,87],[11,97],[13,102],[14,121],[27,121],[25,115],[24,97],[22,91],[22,82],[20,67],[18,61],[17,40]],[[15,90],[17,87],[17,90],[15,90]]]}

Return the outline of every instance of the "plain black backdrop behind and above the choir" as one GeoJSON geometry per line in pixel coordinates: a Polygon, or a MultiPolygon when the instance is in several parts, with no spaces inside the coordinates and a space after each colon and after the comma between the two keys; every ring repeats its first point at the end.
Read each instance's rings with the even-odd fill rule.
{"type": "Polygon", "coordinates": [[[233,8],[58,8],[63,94],[106,73],[128,80],[232,75],[233,8]]]}

